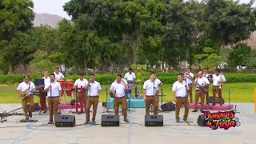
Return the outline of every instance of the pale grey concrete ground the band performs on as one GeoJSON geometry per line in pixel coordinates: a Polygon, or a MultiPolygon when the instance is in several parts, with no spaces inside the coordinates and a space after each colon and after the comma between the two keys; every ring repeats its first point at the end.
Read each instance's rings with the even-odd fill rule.
{"type": "MultiPolygon", "coordinates": [[[[34,119],[38,122],[19,123],[24,115],[13,115],[7,118],[8,122],[0,123],[0,143],[42,143],[42,144],[78,144],[78,143],[120,143],[120,144],[186,144],[186,143],[225,143],[225,144],[255,144],[256,143],[256,114],[254,114],[254,103],[233,103],[237,106],[238,112],[235,117],[239,118],[241,126],[230,127],[229,130],[211,130],[209,127],[197,125],[200,112],[192,113],[190,110],[186,122],[175,122],[175,112],[159,113],[163,115],[164,126],[145,127],[144,114],[145,108],[130,109],[128,113],[130,123],[126,124],[120,116],[119,127],[102,126],[75,126],[75,127],[55,127],[54,125],[45,125],[48,122],[49,115],[38,115],[34,112],[34,119]],[[177,125],[177,126],[175,126],[177,125]]],[[[2,104],[0,109],[10,111],[21,107],[21,104],[2,104]]],[[[62,114],[72,114],[71,110],[62,110],[62,114]]],[[[72,110],[74,111],[74,110],[72,110]]],[[[98,114],[96,122],[101,122],[101,115],[107,114],[98,104],[98,114]],[[105,112],[105,113],[104,113],[105,112]]],[[[113,114],[110,109],[109,114],[113,114]]],[[[212,110],[210,110],[212,111],[212,110]]],[[[180,112],[182,118],[184,109],[180,112]]],[[[216,112],[216,111],[212,111],[216,112]]],[[[18,110],[21,113],[21,110],[18,110]]],[[[91,113],[90,113],[91,115],[91,113]]],[[[85,114],[75,114],[76,124],[82,124],[85,121],[85,114]]],[[[182,121],[182,120],[181,120],[182,121]]]]}

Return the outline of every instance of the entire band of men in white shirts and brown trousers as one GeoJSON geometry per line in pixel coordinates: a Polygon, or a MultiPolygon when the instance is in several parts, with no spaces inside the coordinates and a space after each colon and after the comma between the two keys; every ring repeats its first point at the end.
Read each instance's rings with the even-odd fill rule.
{"type": "MultiPolygon", "coordinates": [[[[42,92],[44,92],[47,97],[50,118],[48,124],[54,124],[54,121],[58,115],[58,103],[60,102],[60,98],[62,96],[62,87],[58,80],[63,80],[65,77],[59,71],[59,68],[55,68],[55,72],[48,76],[49,72],[45,70],[44,72],[44,82],[45,86],[42,92]]],[[[118,74],[115,78],[115,81],[110,86],[110,93],[114,94],[114,113],[118,115],[119,105],[122,107],[122,113],[124,115],[124,121],[129,122],[127,119],[127,106],[126,106],[126,94],[125,90],[128,89],[128,81],[135,80],[135,74],[132,72],[132,69],[129,69],[129,72],[125,74],[125,77],[122,78],[121,74],[118,74]]],[[[25,75],[23,77],[24,82],[20,83],[17,92],[18,94],[22,94],[24,90],[32,90],[30,91],[30,96],[22,99],[22,108],[24,113],[26,114],[25,120],[29,120],[29,117],[32,118],[32,110],[34,109],[34,98],[33,98],[33,89],[35,88],[34,82],[30,82],[30,77],[25,75]],[[26,105],[30,104],[30,110],[27,114],[26,105]]],[[[190,102],[193,102],[192,99],[192,88],[193,85],[196,86],[195,91],[195,106],[193,112],[198,111],[198,98],[201,98],[201,107],[200,110],[204,108],[204,99],[205,92],[202,88],[209,86],[210,81],[213,81],[213,105],[215,105],[216,93],[218,93],[218,97],[220,101],[222,100],[222,90],[218,89],[222,83],[226,82],[224,75],[220,74],[220,70],[216,69],[215,74],[210,77],[207,74],[206,70],[199,71],[198,76],[194,79],[194,74],[191,73],[190,68],[186,70],[185,74],[178,74],[178,81],[174,82],[172,91],[174,94],[174,101],[176,102],[176,120],[179,122],[179,110],[181,106],[185,106],[185,114],[183,120],[186,121],[189,113],[189,102],[187,102],[187,95],[190,95],[190,102]]],[[[97,114],[98,108],[98,94],[102,92],[102,88],[99,82],[95,81],[95,75],[90,74],[89,82],[84,78],[84,74],[80,74],[80,78],[78,78],[74,82],[74,88],[81,87],[84,89],[82,91],[83,101],[85,103],[85,111],[86,111],[86,122],[90,122],[90,107],[93,105],[93,117],[92,124],[96,124],[95,117],[97,114]],[[87,92],[87,93],[86,93],[87,92]]],[[[150,114],[150,106],[154,106],[154,115],[158,114],[158,90],[159,87],[162,86],[162,82],[157,78],[156,73],[152,72],[150,74],[150,79],[146,80],[143,85],[143,99],[146,103],[146,114],[150,114]]],[[[78,90],[78,92],[80,92],[78,90]]],[[[207,90],[206,98],[209,96],[209,91],[207,90]]],[[[22,95],[24,96],[24,95],[22,95]]],[[[46,113],[46,97],[42,98],[42,109],[43,113],[46,113]]],[[[208,100],[206,99],[206,102],[208,100]]],[[[222,104],[221,104],[222,106],[222,104]]]]}

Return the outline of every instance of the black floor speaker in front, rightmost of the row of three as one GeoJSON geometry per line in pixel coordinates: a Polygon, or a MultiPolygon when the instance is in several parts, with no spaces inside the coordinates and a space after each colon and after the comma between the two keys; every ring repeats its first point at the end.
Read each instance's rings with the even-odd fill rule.
{"type": "Polygon", "coordinates": [[[145,115],[145,126],[163,126],[162,115],[145,115]]]}

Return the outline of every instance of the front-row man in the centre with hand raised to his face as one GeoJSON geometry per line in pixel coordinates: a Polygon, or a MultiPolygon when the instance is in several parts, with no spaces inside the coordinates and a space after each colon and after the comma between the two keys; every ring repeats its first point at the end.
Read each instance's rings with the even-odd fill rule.
{"type": "Polygon", "coordinates": [[[110,86],[110,93],[114,94],[114,114],[118,115],[119,105],[122,106],[122,113],[125,122],[129,122],[127,119],[127,106],[125,90],[128,89],[128,83],[122,79],[122,75],[116,76],[116,82],[113,82],[110,86]]]}

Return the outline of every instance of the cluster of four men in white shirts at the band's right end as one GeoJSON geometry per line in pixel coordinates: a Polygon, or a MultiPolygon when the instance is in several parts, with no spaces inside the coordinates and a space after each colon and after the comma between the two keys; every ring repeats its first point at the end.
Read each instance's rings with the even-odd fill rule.
{"type": "Polygon", "coordinates": [[[198,75],[194,78],[194,74],[191,72],[190,68],[186,69],[184,74],[178,74],[178,81],[174,82],[173,85],[173,96],[176,102],[176,122],[179,122],[179,111],[181,106],[185,107],[185,112],[183,120],[187,122],[187,117],[189,114],[190,103],[193,103],[192,89],[195,86],[195,97],[194,97],[194,110],[192,112],[198,111],[198,99],[201,99],[200,111],[205,107],[206,104],[209,105],[209,85],[213,82],[212,94],[213,94],[213,104],[216,105],[216,94],[218,94],[218,99],[220,106],[222,106],[222,83],[226,82],[225,76],[221,73],[219,69],[214,70],[214,74],[210,75],[207,70],[199,70],[198,75]],[[188,101],[188,95],[190,97],[190,102],[188,101]]]}

